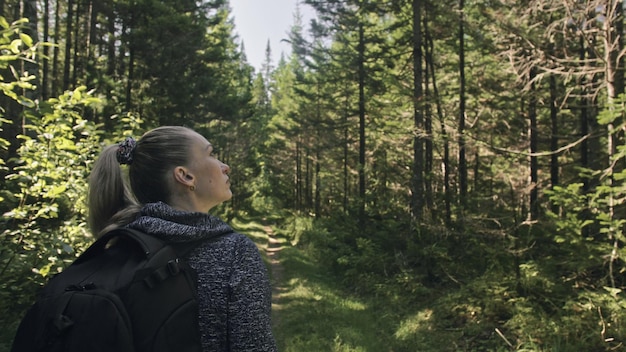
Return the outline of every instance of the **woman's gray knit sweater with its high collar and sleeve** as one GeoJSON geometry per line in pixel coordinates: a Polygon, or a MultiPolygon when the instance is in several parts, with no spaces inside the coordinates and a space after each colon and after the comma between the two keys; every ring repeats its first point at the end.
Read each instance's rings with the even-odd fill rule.
{"type": "Polygon", "coordinates": [[[252,240],[214,216],[165,203],[145,205],[128,227],[172,242],[214,239],[189,255],[198,274],[203,351],[276,351],[267,269],[252,240]]]}

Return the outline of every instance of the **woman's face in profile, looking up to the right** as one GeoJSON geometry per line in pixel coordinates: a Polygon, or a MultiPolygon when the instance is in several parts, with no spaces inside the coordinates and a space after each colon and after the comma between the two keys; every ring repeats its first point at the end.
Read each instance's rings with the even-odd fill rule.
{"type": "Polygon", "coordinates": [[[187,168],[194,181],[194,203],[196,210],[208,212],[233,196],[228,177],[230,167],[217,159],[213,145],[206,138],[190,133],[191,158],[187,168]]]}

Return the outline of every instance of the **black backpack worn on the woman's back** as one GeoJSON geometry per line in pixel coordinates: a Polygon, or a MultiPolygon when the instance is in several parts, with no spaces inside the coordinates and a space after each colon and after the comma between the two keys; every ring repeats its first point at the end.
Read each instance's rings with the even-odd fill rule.
{"type": "Polygon", "coordinates": [[[182,259],[197,245],[105,234],[44,286],[11,352],[200,351],[196,273],[182,259]]]}

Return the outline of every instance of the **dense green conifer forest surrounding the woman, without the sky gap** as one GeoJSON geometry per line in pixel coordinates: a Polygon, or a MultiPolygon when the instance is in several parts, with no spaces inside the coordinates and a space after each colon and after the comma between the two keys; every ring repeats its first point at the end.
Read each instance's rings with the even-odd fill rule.
{"type": "Polygon", "coordinates": [[[0,0],[0,351],[93,240],[99,151],[160,125],[336,290],[282,351],[626,350],[624,2],[301,3],[256,69],[228,0],[0,0]]]}

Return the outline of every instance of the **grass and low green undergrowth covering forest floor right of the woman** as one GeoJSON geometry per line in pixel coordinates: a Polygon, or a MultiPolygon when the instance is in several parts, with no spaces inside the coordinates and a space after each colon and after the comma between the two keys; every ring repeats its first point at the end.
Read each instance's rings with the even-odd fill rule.
{"type": "Polygon", "coordinates": [[[283,223],[295,245],[281,252],[281,351],[625,348],[626,302],[597,277],[572,279],[552,260],[511,257],[505,242],[459,251],[451,235],[417,248],[400,243],[397,229],[383,237],[379,224],[380,232],[352,238],[350,226],[283,223]]]}

